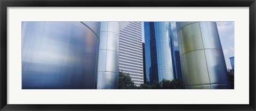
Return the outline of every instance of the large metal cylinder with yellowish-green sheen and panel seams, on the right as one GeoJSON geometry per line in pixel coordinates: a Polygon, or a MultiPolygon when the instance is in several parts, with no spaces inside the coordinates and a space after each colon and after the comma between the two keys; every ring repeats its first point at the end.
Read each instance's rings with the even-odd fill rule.
{"type": "Polygon", "coordinates": [[[177,22],[183,83],[187,89],[230,89],[215,22],[177,22]]]}

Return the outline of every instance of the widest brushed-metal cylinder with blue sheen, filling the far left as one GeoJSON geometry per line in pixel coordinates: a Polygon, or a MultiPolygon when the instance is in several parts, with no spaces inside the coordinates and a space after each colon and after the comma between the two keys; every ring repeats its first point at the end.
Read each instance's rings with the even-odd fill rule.
{"type": "Polygon", "coordinates": [[[22,89],[94,89],[99,26],[22,22],[22,89]]]}

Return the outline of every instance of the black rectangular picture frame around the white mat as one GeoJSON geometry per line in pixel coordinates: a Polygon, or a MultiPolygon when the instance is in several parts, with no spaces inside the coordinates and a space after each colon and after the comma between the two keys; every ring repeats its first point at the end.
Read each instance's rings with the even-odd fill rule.
{"type": "MultiPolygon", "coordinates": [[[[255,0],[0,0],[1,110],[255,110],[255,0]],[[10,105],[7,103],[7,7],[250,7],[250,104],[248,105],[10,105]]],[[[241,96],[241,95],[237,95],[241,96]]]]}

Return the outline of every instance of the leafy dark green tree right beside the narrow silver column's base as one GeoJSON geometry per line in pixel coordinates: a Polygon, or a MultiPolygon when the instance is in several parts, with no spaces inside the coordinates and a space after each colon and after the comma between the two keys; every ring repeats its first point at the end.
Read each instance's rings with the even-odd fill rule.
{"type": "Polygon", "coordinates": [[[119,72],[118,89],[137,89],[129,73],[119,72]]]}

